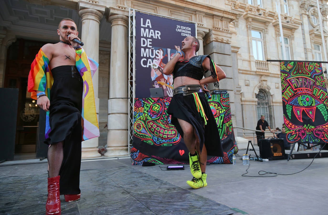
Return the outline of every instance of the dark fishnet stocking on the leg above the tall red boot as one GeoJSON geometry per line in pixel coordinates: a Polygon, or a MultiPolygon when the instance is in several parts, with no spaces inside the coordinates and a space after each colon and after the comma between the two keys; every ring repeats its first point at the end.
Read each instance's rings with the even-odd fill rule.
{"type": "Polygon", "coordinates": [[[63,157],[63,142],[52,144],[48,148],[49,178],[56,177],[59,175],[59,170],[63,162],[63,157]]]}

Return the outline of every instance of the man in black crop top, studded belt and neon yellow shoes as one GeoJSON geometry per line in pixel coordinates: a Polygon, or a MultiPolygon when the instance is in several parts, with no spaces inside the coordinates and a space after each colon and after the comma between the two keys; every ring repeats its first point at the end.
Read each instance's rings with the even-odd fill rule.
{"type": "Polygon", "coordinates": [[[190,171],[194,177],[187,184],[197,189],[207,186],[207,154],[223,157],[217,124],[204,95],[204,91],[209,92],[205,86],[214,83],[218,87],[218,81],[226,74],[209,55],[196,56],[199,41],[195,37],[186,37],[181,49],[180,46],[175,46],[175,49],[177,53],[163,69],[165,75],[173,73],[174,80],[168,113],[189,150],[190,171]],[[208,70],[211,76],[203,78],[208,70]]]}

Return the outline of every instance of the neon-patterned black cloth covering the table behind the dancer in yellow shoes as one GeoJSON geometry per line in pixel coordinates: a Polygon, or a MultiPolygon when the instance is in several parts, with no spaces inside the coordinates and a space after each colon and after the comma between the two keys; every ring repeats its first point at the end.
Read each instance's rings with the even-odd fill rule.
{"type": "MultiPolygon", "coordinates": [[[[167,108],[171,97],[136,98],[133,111],[133,165],[144,161],[154,164],[189,164],[188,149],[171,124],[167,108]]],[[[208,156],[211,164],[230,164],[237,145],[232,128],[229,94],[216,94],[209,100],[218,124],[223,157],[208,156]]]]}

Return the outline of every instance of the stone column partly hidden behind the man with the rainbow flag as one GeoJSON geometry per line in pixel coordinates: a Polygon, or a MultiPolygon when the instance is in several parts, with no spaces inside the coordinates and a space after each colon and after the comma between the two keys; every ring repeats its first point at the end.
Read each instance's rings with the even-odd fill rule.
{"type": "MultiPolygon", "coordinates": [[[[83,49],[88,57],[99,62],[99,25],[105,12],[105,6],[98,4],[79,2],[79,15],[82,17],[81,41],[85,43],[83,49]]],[[[98,70],[92,77],[96,112],[99,119],[98,98],[98,70]]],[[[92,138],[82,142],[82,158],[100,157],[98,153],[98,138],[92,138]]]]}

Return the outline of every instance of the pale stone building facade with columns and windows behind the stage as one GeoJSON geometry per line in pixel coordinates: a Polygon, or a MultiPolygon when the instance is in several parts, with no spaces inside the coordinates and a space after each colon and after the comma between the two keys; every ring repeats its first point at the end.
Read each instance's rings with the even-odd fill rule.
{"type": "MultiPolygon", "coordinates": [[[[280,2],[286,59],[324,60],[319,16],[326,43],[327,1],[319,6],[320,12],[315,1],[280,2]]],[[[17,76],[10,72],[12,46],[57,42],[56,29],[65,17],[75,20],[83,48],[99,62],[93,82],[101,136],[82,143],[83,158],[99,157],[97,147],[106,144],[105,156],[128,155],[129,8],[197,23],[198,54],[211,55],[227,74],[220,90],[230,94],[235,127],[255,129],[260,114],[272,128],[283,123],[279,63],[266,61],[282,59],[275,1],[4,0],[0,8],[0,87],[10,87],[10,77],[17,76]]],[[[27,67],[31,62],[24,58],[20,62],[27,67]]],[[[241,129],[235,129],[236,136],[243,136],[237,131],[241,129]]]]}

